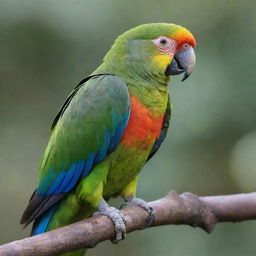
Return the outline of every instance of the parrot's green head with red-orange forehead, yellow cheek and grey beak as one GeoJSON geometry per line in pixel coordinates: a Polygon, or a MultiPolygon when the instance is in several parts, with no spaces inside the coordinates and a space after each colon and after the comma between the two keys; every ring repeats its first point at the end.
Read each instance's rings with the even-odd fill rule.
{"type": "Polygon", "coordinates": [[[195,46],[194,36],[181,26],[144,24],[120,35],[104,60],[144,79],[168,80],[169,76],[184,73],[184,81],[195,66],[195,46]]]}

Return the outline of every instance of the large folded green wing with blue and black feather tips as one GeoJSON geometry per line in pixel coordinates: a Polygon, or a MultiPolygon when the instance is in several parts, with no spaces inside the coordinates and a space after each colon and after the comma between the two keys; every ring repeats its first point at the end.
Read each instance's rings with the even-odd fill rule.
{"type": "Polygon", "coordinates": [[[129,115],[129,92],[120,77],[91,76],[75,88],[54,120],[40,165],[38,188],[22,224],[29,224],[61,200],[116,149],[129,115]]]}

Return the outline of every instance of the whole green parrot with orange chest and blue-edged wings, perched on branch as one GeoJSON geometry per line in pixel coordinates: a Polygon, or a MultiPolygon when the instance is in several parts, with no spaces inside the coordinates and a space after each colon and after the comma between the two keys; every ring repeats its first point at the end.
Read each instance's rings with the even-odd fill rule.
{"type": "Polygon", "coordinates": [[[136,197],[138,177],[167,134],[170,79],[191,75],[195,46],[189,30],[171,23],[139,25],[117,37],[52,123],[36,189],[20,221],[33,222],[31,235],[105,215],[114,223],[116,243],[126,232],[120,210],[108,204],[117,196],[142,207],[148,225],[154,221],[154,209],[136,197]]]}

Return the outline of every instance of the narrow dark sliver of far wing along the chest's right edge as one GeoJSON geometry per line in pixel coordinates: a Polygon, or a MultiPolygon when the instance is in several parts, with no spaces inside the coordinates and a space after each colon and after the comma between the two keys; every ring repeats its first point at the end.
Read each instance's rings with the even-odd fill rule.
{"type": "Polygon", "coordinates": [[[160,136],[155,141],[155,143],[151,149],[151,152],[148,156],[147,161],[157,152],[157,150],[160,148],[162,142],[164,141],[164,139],[167,135],[168,128],[169,128],[170,119],[171,119],[171,104],[170,104],[170,97],[169,97],[165,115],[164,115],[164,119],[163,119],[162,130],[161,130],[160,136]]]}

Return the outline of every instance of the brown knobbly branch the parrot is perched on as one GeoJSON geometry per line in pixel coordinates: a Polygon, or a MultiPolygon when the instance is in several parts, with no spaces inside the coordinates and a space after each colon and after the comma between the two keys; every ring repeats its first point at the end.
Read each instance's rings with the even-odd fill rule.
{"type": "MultiPolygon", "coordinates": [[[[187,224],[210,233],[218,222],[256,219],[256,192],[247,194],[197,197],[192,193],[165,197],[150,202],[156,213],[151,226],[187,224]]],[[[127,233],[145,228],[147,213],[140,207],[122,210],[127,233]]],[[[114,226],[106,216],[97,216],[41,235],[0,246],[0,256],[58,255],[91,248],[114,237],[114,226]]]]}

